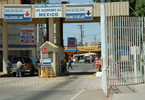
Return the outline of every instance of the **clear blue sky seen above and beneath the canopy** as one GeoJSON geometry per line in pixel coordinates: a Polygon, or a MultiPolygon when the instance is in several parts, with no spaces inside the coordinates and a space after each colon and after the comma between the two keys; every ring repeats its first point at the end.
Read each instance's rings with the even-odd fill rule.
{"type": "MultiPolygon", "coordinates": [[[[50,2],[53,2],[56,0],[50,0],[50,2]]],[[[64,0],[61,0],[64,1],[64,0]]],[[[69,1],[69,0],[65,0],[69,1]]],[[[91,3],[92,0],[70,0],[70,3],[91,3]]],[[[101,41],[101,27],[100,23],[68,23],[64,24],[63,26],[63,34],[64,34],[64,46],[67,46],[67,38],[68,37],[76,37],[77,42],[81,41],[81,31],[78,28],[78,25],[84,25],[83,31],[84,31],[84,38],[83,38],[83,44],[84,42],[95,42],[94,35],[96,36],[96,41],[101,41]]]]}

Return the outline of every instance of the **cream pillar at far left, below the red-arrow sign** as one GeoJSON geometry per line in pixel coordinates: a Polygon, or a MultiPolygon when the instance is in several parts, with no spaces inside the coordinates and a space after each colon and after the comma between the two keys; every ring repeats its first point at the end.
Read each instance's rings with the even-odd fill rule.
{"type": "Polygon", "coordinates": [[[6,73],[6,63],[8,60],[8,24],[6,22],[3,25],[3,73],[6,73]]]}

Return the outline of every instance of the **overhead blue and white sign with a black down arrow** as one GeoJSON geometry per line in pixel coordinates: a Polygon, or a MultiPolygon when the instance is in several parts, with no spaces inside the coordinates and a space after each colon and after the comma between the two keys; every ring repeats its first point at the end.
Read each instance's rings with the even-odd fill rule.
{"type": "Polygon", "coordinates": [[[66,7],[66,21],[93,20],[92,6],[66,7]]]}

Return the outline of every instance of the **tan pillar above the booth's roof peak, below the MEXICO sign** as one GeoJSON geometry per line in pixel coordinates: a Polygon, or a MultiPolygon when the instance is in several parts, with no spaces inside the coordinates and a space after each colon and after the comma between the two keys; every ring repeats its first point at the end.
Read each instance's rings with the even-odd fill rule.
{"type": "Polygon", "coordinates": [[[54,43],[54,18],[49,18],[49,41],[54,43]]]}

